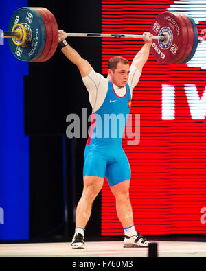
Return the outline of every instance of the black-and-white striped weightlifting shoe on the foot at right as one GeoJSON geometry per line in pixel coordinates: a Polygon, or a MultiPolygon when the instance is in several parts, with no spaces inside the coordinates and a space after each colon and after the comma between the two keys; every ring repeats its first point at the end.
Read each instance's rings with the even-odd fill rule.
{"type": "Polygon", "coordinates": [[[124,235],[124,248],[147,248],[148,247],[148,240],[137,233],[137,235],[133,235],[128,237],[124,235]]]}

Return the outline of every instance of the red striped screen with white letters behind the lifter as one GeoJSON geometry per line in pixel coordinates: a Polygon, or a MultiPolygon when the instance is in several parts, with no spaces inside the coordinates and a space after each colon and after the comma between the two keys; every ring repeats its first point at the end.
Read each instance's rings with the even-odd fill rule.
{"type": "MultiPolygon", "coordinates": [[[[102,1],[102,33],[149,32],[161,12],[173,9],[193,16],[189,5],[190,1],[102,1]]],[[[206,29],[204,9],[196,18],[200,36],[206,29]]],[[[143,44],[103,38],[102,73],[106,75],[112,56],[124,56],[131,64],[143,44]]],[[[134,132],[138,115],[140,139],[129,145],[127,133],[123,147],[132,170],[134,222],[142,234],[206,233],[206,45],[201,46],[190,64],[179,66],[160,64],[150,54],[133,91],[133,121],[127,126],[133,123],[134,132]]],[[[105,181],[102,235],[123,234],[105,181]]]]}

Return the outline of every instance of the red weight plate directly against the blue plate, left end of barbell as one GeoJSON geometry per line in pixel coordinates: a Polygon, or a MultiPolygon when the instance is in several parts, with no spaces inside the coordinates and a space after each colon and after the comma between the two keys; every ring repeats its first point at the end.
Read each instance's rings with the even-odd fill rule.
{"type": "Polygon", "coordinates": [[[46,29],[46,34],[47,34],[45,47],[43,49],[41,56],[39,56],[39,58],[33,61],[33,62],[42,62],[48,56],[49,51],[52,47],[52,40],[53,40],[52,25],[47,17],[47,14],[42,8],[34,8],[34,10],[36,10],[39,14],[41,14],[42,19],[45,23],[45,29],[46,29]]]}

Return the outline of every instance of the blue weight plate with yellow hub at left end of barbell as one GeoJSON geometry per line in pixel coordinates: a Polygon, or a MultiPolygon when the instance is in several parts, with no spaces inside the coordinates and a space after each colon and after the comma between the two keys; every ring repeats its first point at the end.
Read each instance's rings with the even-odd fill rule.
{"type": "Polygon", "coordinates": [[[45,23],[41,15],[33,8],[19,8],[10,19],[8,31],[17,23],[23,24],[27,31],[27,40],[24,45],[17,46],[9,38],[8,43],[14,56],[23,62],[32,62],[43,53],[46,42],[45,23]]]}

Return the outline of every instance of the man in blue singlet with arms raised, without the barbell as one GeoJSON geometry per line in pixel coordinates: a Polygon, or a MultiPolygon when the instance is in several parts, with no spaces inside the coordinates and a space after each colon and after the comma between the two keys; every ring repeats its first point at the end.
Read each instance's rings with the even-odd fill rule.
{"type": "Polygon", "coordinates": [[[104,78],[67,44],[66,33],[59,30],[58,47],[78,67],[84,85],[89,91],[89,101],[93,109],[91,132],[84,150],[84,189],[76,209],[76,230],[71,243],[72,248],[84,248],[84,228],[91,215],[93,201],[102,189],[104,176],[116,198],[117,216],[124,228],[124,247],[148,246],[148,241],[135,230],[133,222],[129,198],[130,165],[122,149],[125,126],[122,130],[120,128],[119,136],[116,138],[111,137],[111,134],[107,138],[93,137],[93,133],[98,128],[104,129],[104,114],[121,113],[125,117],[129,114],[133,89],[148,60],[152,36],[149,32],[144,32],[144,46],[133,59],[131,66],[128,60],[121,56],[111,58],[108,62],[108,76],[104,78]],[[97,115],[102,121],[97,121],[97,115]]]}

